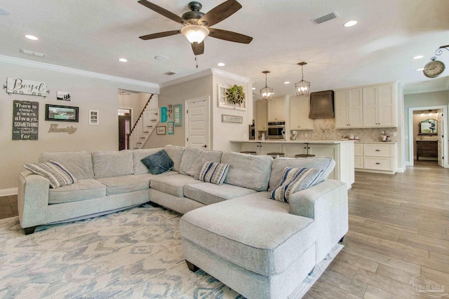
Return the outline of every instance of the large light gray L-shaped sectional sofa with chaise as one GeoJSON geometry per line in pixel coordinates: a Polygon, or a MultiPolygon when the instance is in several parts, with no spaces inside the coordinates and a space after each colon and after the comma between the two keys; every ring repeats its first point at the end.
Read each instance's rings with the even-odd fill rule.
{"type": "Polygon", "coordinates": [[[41,153],[65,165],[77,183],[52,189],[29,171],[19,176],[25,233],[152,202],[185,214],[180,221],[187,265],[248,298],[286,298],[348,230],[347,188],[328,180],[330,158],[277,158],[165,146],[135,151],[41,153]],[[153,175],[140,162],[164,149],[173,169],[153,175]],[[203,160],[227,163],[222,185],[194,179],[203,160]],[[289,202],[269,199],[285,167],[320,168],[316,185],[289,202]],[[201,208],[201,209],[199,209],[201,208]],[[294,277],[294,279],[292,279],[294,277]]]}

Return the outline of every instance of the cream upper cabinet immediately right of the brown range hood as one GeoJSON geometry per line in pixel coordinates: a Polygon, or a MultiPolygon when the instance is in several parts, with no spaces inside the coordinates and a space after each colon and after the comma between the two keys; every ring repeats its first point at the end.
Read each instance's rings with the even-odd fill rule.
{"type": "Polygon", "coordinates": [[[363,127],[362,88],[335,92],[335,128],[363,127]]]}

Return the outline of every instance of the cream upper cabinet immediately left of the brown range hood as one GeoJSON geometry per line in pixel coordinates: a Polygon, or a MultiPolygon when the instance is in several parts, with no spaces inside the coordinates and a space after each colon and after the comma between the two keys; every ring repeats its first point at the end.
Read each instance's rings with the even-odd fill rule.
{"type": "Polygon", "coordinates": [[[309,118],[310,98],[290,98],[290,130],[314,130],[314,120],[309,118]]]}

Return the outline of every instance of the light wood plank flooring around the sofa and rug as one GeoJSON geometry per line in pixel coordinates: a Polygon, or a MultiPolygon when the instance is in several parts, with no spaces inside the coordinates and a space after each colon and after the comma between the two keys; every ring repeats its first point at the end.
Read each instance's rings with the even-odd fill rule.
{"type": "MultiPolygon", "coordinates": [[[[0,218],[17,215],[17,196],[0,197],[0,218]]],[[[356,172],[344,245],[304,298],[426,298],[412,294],[417,275],[448,293],[449,169],[415,161],[403,174],[356,172]]]]}

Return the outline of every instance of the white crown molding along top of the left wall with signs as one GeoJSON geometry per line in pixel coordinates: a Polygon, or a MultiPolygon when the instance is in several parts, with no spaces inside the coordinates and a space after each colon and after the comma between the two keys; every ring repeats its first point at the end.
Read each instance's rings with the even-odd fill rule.
{"type": "Polygon", "coordinates": [[[37,69],[46,69],[48,71],[58,71],[60,73],[65,74],[72,74],[72,75],[79,75],[79,76],[86,76],[90,78],[97,78],[107,81],[113,81],[113,82],[119,82],[119,83],[126,83],[131,85],[138,85],[146,88],[156,88],[159,90],[159,84],[156,83],[150,83],[145,81],[138,81],[128,78],[122,78],[122,77],[116,77],[116,76],[110,76],[100,73],[95,73],[93,71],[83,71],[81,69],[72,69],[70,67],[61,67],[60,65],[56,64],[47,64],[43,62],[35,62],[32,60],[24,60],[21,58],[15,58],[10,56],[4,56],[0,55],[0,62],[6,62],[9,64],[18,64],[25,67],[35,67],[37,69]]]}

